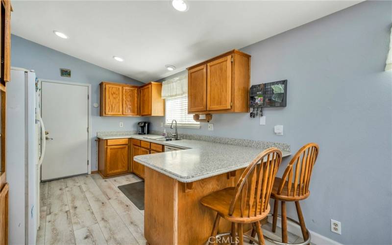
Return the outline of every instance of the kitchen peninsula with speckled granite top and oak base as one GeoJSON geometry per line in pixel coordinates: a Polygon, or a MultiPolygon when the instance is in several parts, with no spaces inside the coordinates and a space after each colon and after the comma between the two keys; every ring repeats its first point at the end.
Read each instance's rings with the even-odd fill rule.
{"type": "MultiPolygon", "coordinates": [[[[263,148],[282,146],[283,157],[291,154],[286,144],[243,140],[232,143],[236,141],[239,145],[199,140],[160,142],[182,150],[134,157],[145,166],[144,227],[149,244],[205,243],[216,214],[203,207],[200,198],[235,186],[263,148]]],[[[229,229],[229,223],[222,221],[220,231],[229,229]]]]}

